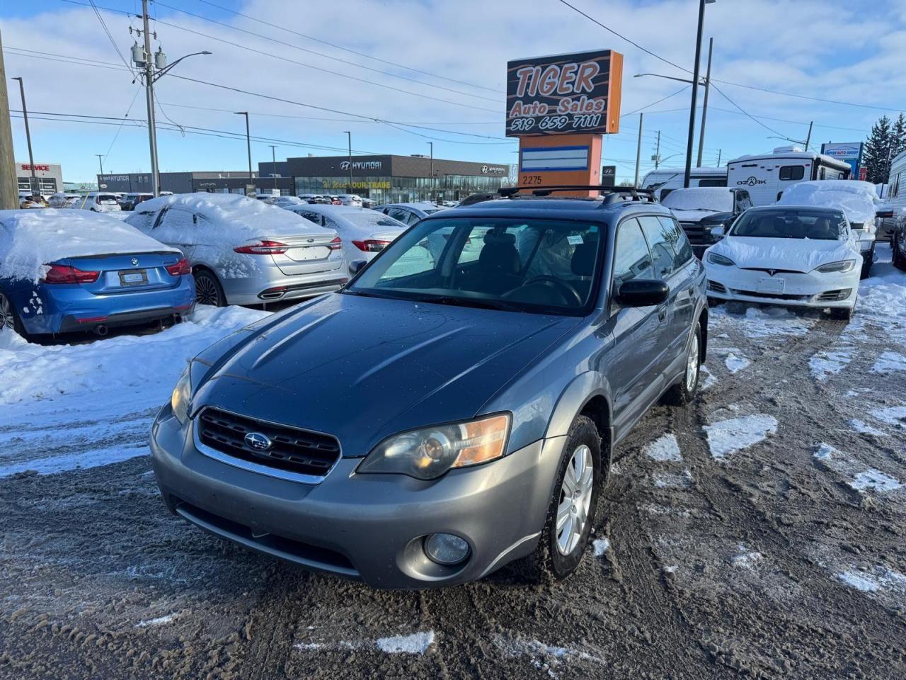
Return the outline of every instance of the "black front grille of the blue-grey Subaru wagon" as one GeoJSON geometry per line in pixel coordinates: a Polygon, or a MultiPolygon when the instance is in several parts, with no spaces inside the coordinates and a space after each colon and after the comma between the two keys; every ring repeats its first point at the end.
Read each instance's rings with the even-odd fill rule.
{"type": "Polygon", "coordinates": [[[198,439],[212,449],[277,470],[323,477],[340,458],[340,442],[329,434],[265,423],[235,413],[206,408],[198,416],[198,439]],[[246,443],[257,432],[271,441],[265,451],[246,443]]]}

